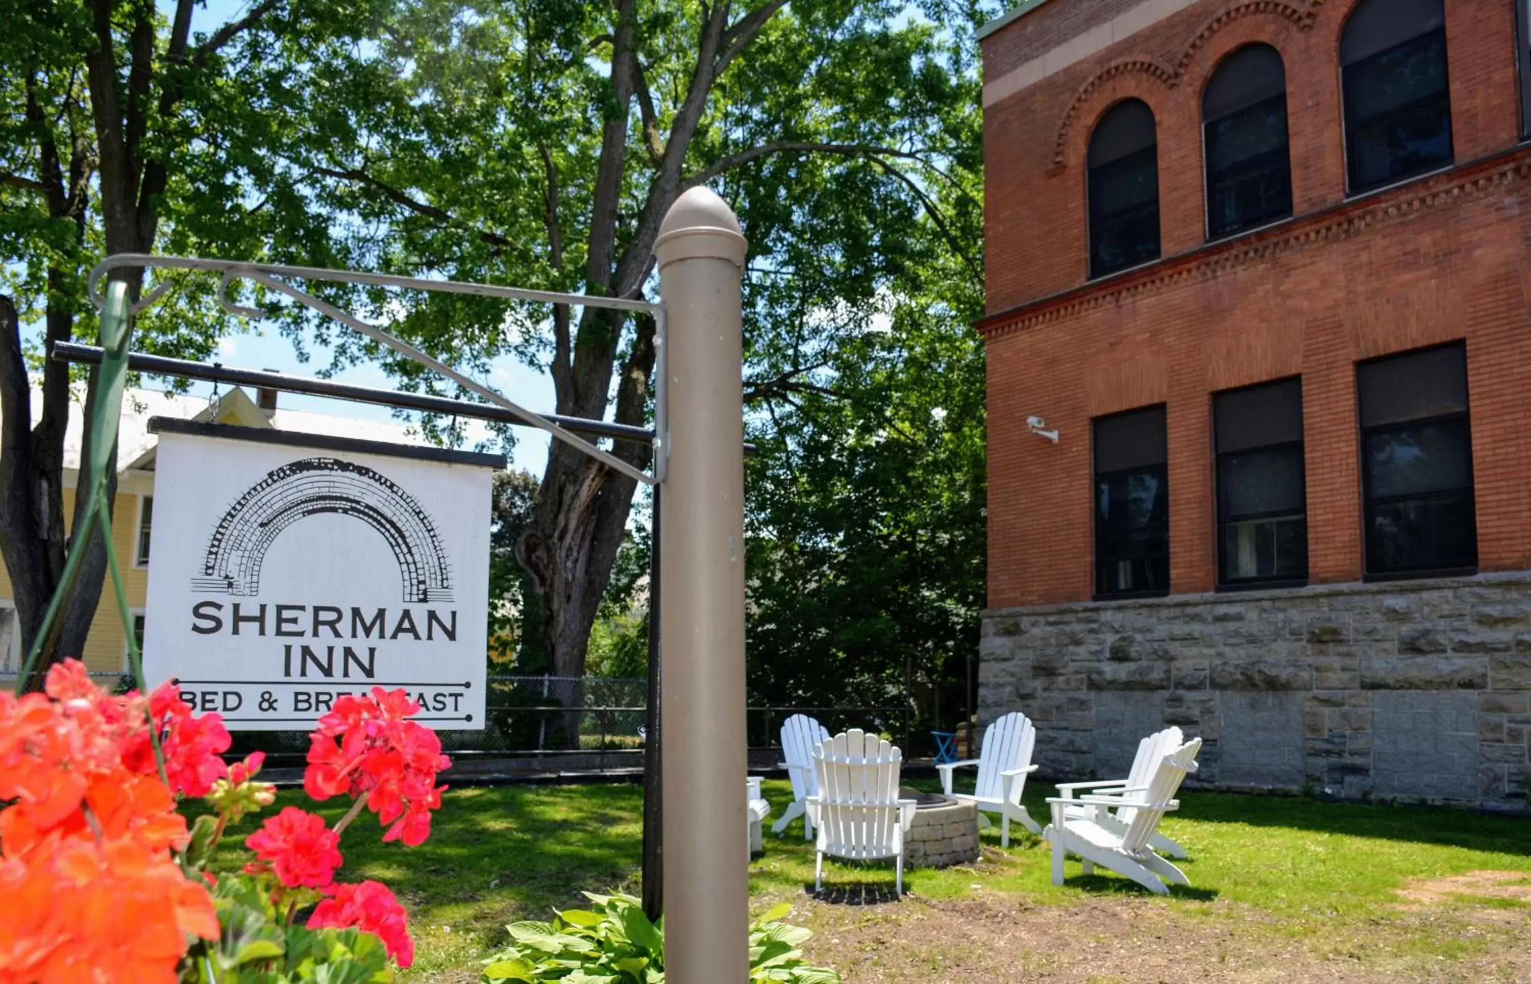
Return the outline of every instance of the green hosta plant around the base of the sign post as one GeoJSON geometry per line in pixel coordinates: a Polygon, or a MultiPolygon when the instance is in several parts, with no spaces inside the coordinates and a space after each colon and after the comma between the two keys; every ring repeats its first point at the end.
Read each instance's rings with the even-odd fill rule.
{"type": "MultiPolygon", "coordinates": [[[[511,944],[484,961],[485,984],[563,981],[565,984],[657,984],[664,979],[664,921],[655,926],[632,895],[594,895],[589,909],[557,912],[551,923],[511,923],[511,944]]],[[[798,949],[807,929],[781,920],[776,906],[750,926],[750,981],[839,984],[827,967],[813,967],[798,949]]]]}

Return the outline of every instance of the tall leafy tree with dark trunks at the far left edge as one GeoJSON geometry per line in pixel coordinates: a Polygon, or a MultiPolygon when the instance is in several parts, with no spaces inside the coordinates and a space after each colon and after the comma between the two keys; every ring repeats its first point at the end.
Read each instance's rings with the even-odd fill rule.
{"type": "MultiPolygon", "coordinates": [[[[277,3],[259,0],[207,31],[193,31],[194,6],[178,0],[167,18],[153,0],[0,0],[0,557],[23,646],[35,638],[63,574],[69,419],[69,370],[57,363],[41,366],[34,419],[23,323],[40,320],[44,344],[89,337],[95,318],[84,303],[86,272],[103,253],[153,251],[167,228],[173,243],[250,243],[231,220],[237,185],[205,185],[187,167],[217,139],[193,104],[237,75],[237,52],[276,20],[277,3]]],[[[115,277],[138,297],[141,271],[115,277]]],[[[142,318],[138,347],[207,354],[220,326],[208,297],[207,285],[179,291],[142,318]]],[[[35,366],[37,350],[31,355],[35,366]]],[[[92,386],[87,418],[93,401],[92,386]]],[[[81,461],[89,456],[86,441],[81,461]]],[[[80,487],[90,485],[81,474],[80,487]]],[[[77,500],[77,519],[86,503],[77,500]]],[[[81,650],[101,594],[100,536],[83,548],[80,586],[55,626],[55,658],[81,650]]],[[[38,684],[41,669],[23,686],[38,684]]]]}

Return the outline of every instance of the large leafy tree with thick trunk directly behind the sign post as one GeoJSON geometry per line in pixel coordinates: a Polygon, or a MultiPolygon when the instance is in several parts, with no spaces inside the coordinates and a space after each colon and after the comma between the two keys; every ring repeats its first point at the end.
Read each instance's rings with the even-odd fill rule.
{"type": "MultiPolygon", "coordinates": [[[[251,35],[257,69],[219,113],[256,130],[225,142],[225,171],[328,217],[325,236],[273,242],[279,254],[322,243],[328,262],[371,269],[623,297],[652,295],[660,220],[712,184],[752,239],[750,373],[805,383],[827,366],[801,358],[847,334],[814,312],[870,305],[932,256],[977,277],[977,226],[942,204],[977,171],[975,17],[934,2],[403,0],[329,32],[251,35]],[[784,343],[788,320],[810,346],[784,343]]],[[[545,364],[559,413],[651,412],[645,318],[352,300],[456,364],[545,364]]],[[[381,358],[436,386],[337,341],[341,361],[381,358]]],[[[614,451],[649,464],[646,447],[614,451]]],[[[583,670],[632,493],[553,445],[517,557],[559,675],[583,670]]]]}

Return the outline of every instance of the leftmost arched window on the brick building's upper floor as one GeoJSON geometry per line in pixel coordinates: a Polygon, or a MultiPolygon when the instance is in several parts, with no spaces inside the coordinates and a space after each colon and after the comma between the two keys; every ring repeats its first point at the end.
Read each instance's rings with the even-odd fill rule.
{"type": "Polygon", "coordinates": [[[1142,99],[1113,106],[1090,135],[1090,275],[1159,259],[1159,145],[1142,99]]]}

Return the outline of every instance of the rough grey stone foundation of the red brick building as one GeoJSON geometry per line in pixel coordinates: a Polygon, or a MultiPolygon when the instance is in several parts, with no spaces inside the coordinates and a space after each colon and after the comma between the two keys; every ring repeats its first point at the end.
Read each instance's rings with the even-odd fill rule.
{"type": "Polygon", "coordinates": [[[1531,574],[992,609],[978,681],[1049,776],[1176,724],[1194,785],[1526,811],[1531,574]]]}

